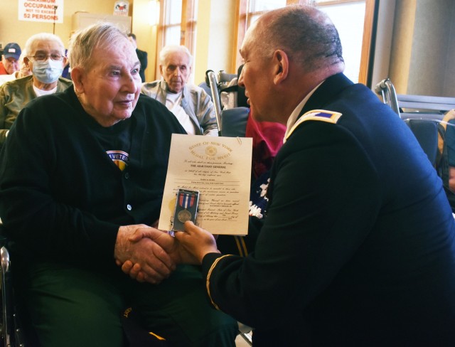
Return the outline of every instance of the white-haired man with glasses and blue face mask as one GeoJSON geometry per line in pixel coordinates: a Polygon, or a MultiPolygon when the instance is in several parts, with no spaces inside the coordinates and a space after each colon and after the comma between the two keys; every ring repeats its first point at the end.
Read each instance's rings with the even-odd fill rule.
{"type": "Polygon", "coordinates": [[[23,62],[32,75],[0,86],[0,148],[18,113],[29,101],[42,95],[63,92],[73,85],[73,82],[61,77],[66,57],[65,46],[58,36],[37,33],[28,38],[24,50],[27,56],[23,62]]]}

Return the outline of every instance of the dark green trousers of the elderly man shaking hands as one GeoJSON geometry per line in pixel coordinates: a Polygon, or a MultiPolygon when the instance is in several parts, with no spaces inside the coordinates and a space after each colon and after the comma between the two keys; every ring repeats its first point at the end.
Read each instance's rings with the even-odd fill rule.
{"type": "Polygon", "coordinates": [[[127,346],[128,306],[170,346],[235,346],[237,321],[210,306],[198,267],[181,265],[156,285],[48,262],[21,272],[19,295],[42,347],[127,346]]]}

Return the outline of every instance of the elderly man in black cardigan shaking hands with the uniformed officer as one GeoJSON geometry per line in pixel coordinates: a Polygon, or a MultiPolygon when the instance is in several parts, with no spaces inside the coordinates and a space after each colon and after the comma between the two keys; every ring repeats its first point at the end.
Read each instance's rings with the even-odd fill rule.
{"type": "Polygon", "coordinates": [[[171,346],[235,346],[237,322],[210,306],[200,268],[161,246],[173,237],[129,240],[159,218],[183,127],[140,94],[139,59],[117,26],[75,33],[69,59],[74,87],[29,102],[0,154],[0,217],[39,346],[124,347],[126,306],[171,346]],[[149,283],[117,267],[131,258],[149,283]]]}

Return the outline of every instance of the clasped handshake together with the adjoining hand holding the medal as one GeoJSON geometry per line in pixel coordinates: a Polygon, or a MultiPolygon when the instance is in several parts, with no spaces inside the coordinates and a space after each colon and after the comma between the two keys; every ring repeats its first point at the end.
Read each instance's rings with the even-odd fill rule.
{"type": "Polygon", "coordinates": [[[139,282],[159,284],[178,264],[200,265],[204,255],[219,252],[215,237],[192,222],[175,237],[148,225],[119,228],[114,258],[125,274],[139,282]]]}

